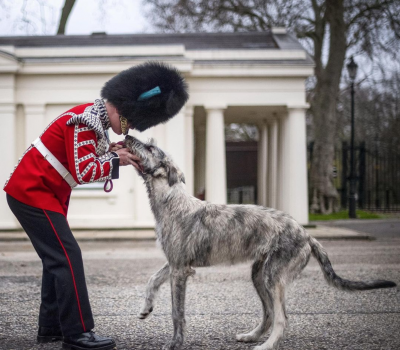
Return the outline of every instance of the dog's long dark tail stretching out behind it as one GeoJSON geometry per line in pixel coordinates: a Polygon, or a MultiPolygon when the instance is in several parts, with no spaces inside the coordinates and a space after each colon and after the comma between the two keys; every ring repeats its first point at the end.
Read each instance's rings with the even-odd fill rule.
{"type": "Polygon", "coordinates": [[[322,245],[315,238],[311,236],[309,236],[308,242],[311,246],[312,254],[318,260],[322,272],[324,273],[324,277],[330,285],[346,291],[396,287],[396,283],[392,281],[377,280],[377,281],[357,282],[357,281],[349,281],[339,277],[333,270],[331,262],[329,261],[328,258],[328,254],[326,253],[322,245]]]}

